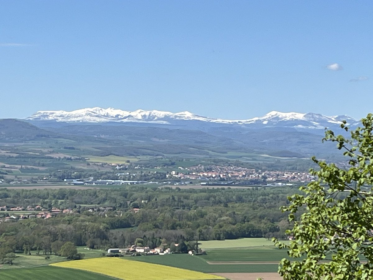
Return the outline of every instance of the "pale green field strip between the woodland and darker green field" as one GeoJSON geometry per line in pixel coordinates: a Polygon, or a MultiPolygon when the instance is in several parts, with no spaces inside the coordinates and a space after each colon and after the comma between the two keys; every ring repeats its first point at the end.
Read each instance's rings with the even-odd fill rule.
{"type": "MultiPolygon", "coordinates": [[[[284,241],[286,243],[288,241],[284,241]]],[[[273,246],[272,240],[266,238],[239,238],[226,240],[209,240],[200,241],[200,248],[203,250],[232,247],[256,247],[256,246],[273,246]]]]}

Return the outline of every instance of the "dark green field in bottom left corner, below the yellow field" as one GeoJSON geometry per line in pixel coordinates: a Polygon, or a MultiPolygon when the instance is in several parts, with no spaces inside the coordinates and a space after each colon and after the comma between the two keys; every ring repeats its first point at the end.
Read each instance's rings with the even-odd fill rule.
{"type": "Polygon", "coordinates": [[[7,280],[112,280],[110,276],[70,268],[51,267],[50,265],[35,268],[0,270],[0,279],[7,280]]]}

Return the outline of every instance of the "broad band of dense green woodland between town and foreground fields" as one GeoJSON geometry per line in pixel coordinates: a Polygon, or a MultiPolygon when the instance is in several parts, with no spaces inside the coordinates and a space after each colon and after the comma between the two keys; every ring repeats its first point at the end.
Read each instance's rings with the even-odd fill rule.
{"type": "MultiPolygon", "coordinates": [[[[0,205],[72,209],[70,214],[0,223],[0,257],[37,250],[58,253],[72,242],[90,248],[172,246],[195,240],[284,237],[288,203],[295,188],[163,189],[126,186],[107,189],[0,189],[0,205]],[[106,209],[110,207],[112,209],[106,209]],[[140,241],[139,241],[140,240],[140,241]]],[[[5,217],[10,211],[1,211],[5,217]]]]}

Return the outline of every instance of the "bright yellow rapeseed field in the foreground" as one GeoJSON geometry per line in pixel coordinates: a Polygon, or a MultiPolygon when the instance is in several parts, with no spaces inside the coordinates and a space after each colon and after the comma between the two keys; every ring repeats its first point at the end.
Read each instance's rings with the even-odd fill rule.
{"type": "Polygon", "coordinates": [[[129,261],[119,258],[80,259],[77,261],[57,262],[50,264],[56,267],[75,268],[105,274],[125,280],[207,280],[225,279],[224,277],[169,267],[166,265],[149,264],[147,262],[129,261]]]}

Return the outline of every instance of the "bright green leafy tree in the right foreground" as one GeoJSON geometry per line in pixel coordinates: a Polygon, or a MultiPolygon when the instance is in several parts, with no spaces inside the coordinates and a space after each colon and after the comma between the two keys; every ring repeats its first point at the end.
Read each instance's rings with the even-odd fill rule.
{"type": "Polygon", "coordinates": [[[326,163],[313,158],[317,181],[301,187],[303,195],[289,197],[287,233],[294,240],[288,249],[295,261],[282,259],[283,279],[373,279],[373,115],[351,130],[351,139],[326,131],[323,141],[333,141],[347,162],[326,163]],[[303,213],[303,214],[300,214],[303,213]]]}

